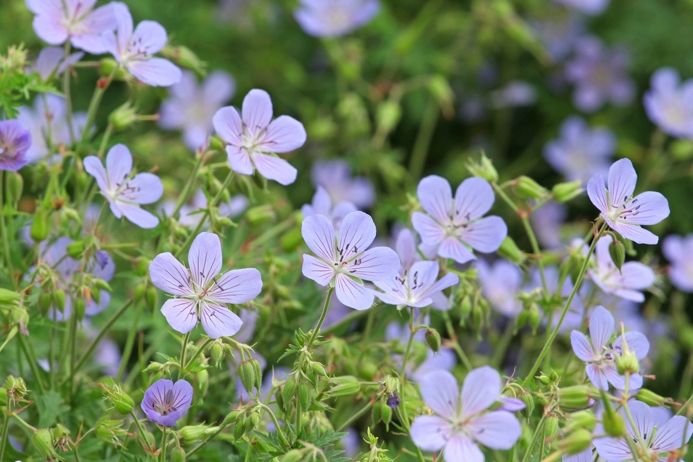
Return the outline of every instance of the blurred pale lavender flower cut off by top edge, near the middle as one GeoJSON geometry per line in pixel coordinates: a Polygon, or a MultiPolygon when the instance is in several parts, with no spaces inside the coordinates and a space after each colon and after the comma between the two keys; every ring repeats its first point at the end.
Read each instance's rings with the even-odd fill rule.
{"type": "Polygon", "coordinates": [[[300,0],[294,16],[308,35],[340,37],[367,24],[379,10],[378,0],[300,0]]]}

